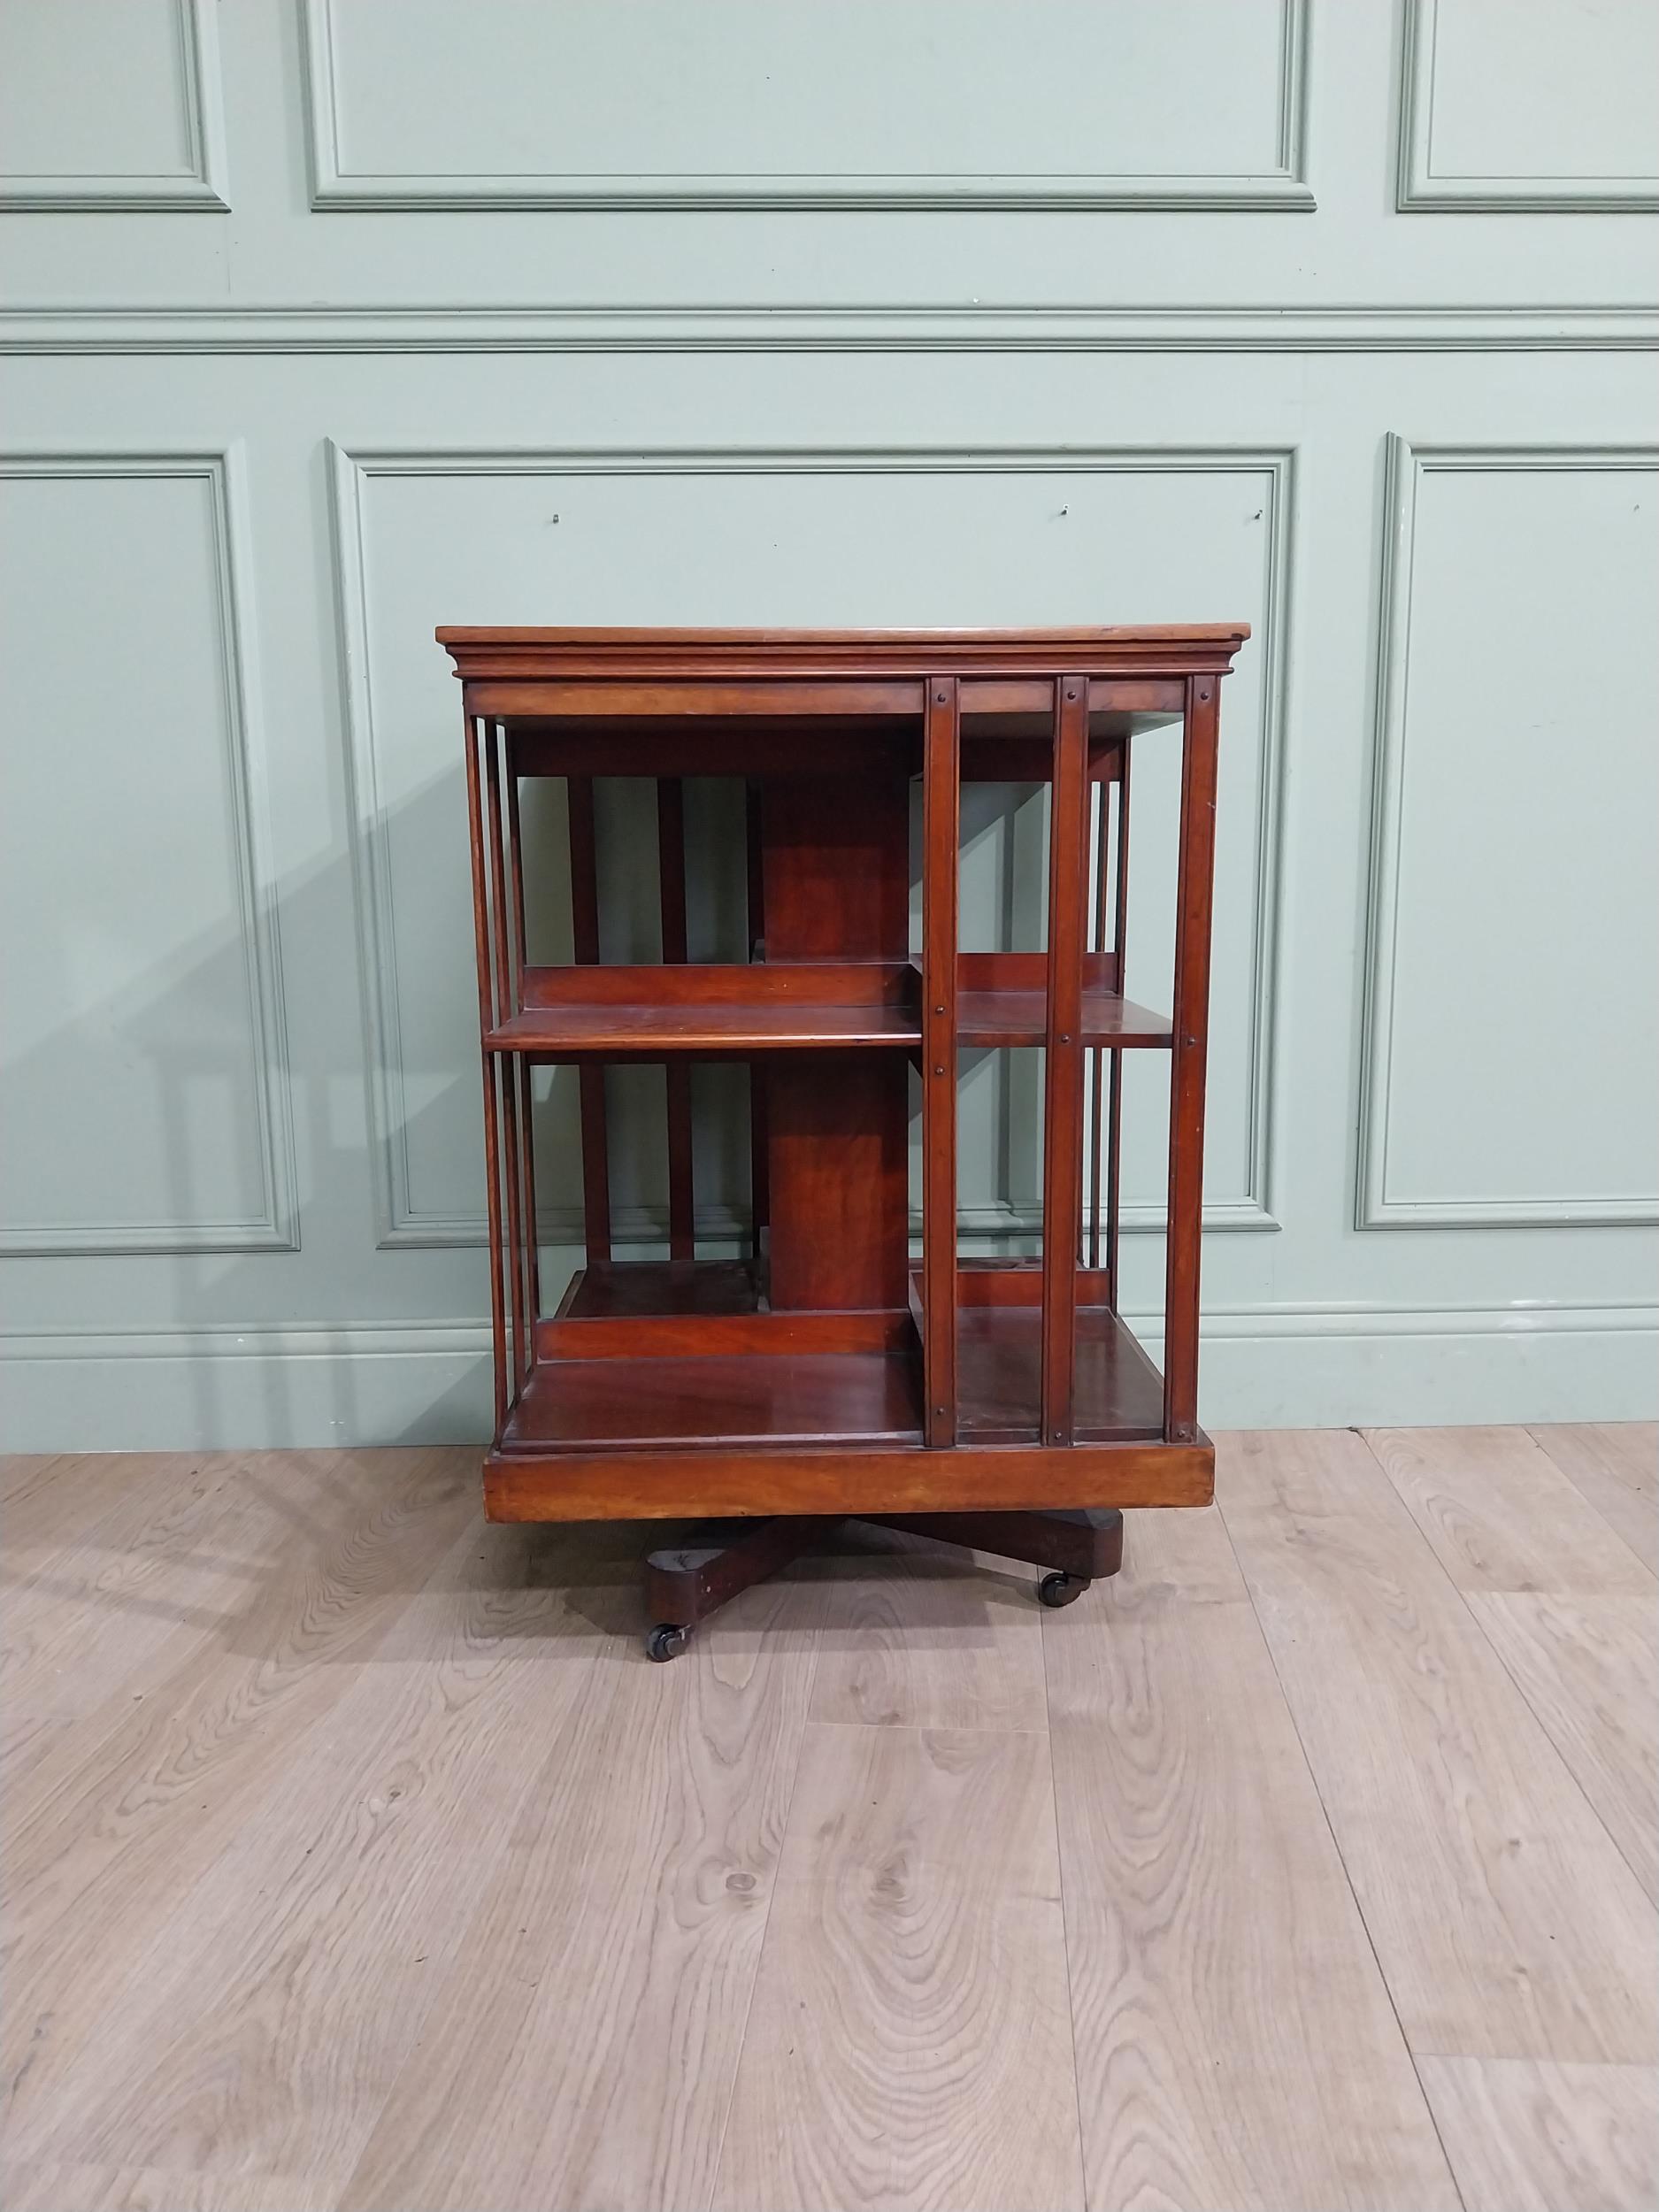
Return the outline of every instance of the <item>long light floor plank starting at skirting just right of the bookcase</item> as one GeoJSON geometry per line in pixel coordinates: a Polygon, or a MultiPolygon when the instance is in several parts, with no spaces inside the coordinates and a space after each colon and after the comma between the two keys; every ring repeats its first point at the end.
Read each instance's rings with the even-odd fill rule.
{"type": "Polygon", "coordinates": [[[1413,2055],[1652,2062],[1641,1885],[1365,1442],[1217,1495],[1413,2055]]]}

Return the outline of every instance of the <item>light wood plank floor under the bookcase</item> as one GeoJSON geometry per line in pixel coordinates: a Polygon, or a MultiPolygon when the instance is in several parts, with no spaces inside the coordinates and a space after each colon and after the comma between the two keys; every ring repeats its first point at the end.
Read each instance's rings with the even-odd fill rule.
{"type": "Polygon", "coordinates": [[[1655,1431],[637,1641],[476,1453],[4,1462],[9,2212],[1650,2205],[1655,1431]]]}

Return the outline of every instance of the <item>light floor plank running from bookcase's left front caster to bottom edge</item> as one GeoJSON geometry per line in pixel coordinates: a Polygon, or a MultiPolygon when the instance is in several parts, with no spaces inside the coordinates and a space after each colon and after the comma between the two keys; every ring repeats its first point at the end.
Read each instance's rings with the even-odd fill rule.
{"type": "Polygon", "coordinates": [[[670,1666],[637,1555],[593,1606],[577,1708],[531,1790],[341,2205],[690,2212],[708,2203],[812,1694],[816,1597],[745,1593],[670,1666]]]}

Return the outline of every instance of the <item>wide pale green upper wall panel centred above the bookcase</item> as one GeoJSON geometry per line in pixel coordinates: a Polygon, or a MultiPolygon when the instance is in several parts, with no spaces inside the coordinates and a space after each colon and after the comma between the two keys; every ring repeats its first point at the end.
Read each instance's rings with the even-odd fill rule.
{"type": "Polygon", "coordinates": [[[1305,0],[307,0],[319,206],[1312,206],[1305,0]]]}

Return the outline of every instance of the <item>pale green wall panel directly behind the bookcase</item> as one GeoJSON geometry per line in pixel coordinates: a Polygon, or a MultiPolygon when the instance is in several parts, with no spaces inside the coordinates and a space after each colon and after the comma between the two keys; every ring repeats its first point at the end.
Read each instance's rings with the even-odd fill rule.
{"type": "MultiPolygon", "coordinates": [[[[425,646],[438,622],[971,626],[1155,622],[1175,606],[1254,626],[1225,699],[1219,896],[1248,925],[1217,947],[1208,1219],[1272,1225],[1287,456],[434,451],[338,456],[336,473],[385,1239],[482,1239],[460,699],[425,646]]],[[[1170,991],[1177,770],[1177,732],[1139,741],[1128,987],[1148,1004],[1170,991]]],[[[562,880],[557,836],[546,849],[562,880]]],[[[628,874],[615,867],[617,889],[628,874]]],[[[998,927],[967,911],[964,942],[998,927]]],[[[1139,1057],[1126,1194],[1133,1223],[1157,1225],[1168,1068],[1139,1057]]],[[[1009,1097],[1031,1106],[1029,1086],[1009,1097]]],[[[555,1095],[560,1133],[568,1115],[555,1095]]],[[[1035,1128],[1015,1128],[1002,1146],[1015,1212],[1033,1144],[1035,1128]]],[[[575,1190],[555,1181],[549,1203],[573,1208],[575,1190]]]]}

